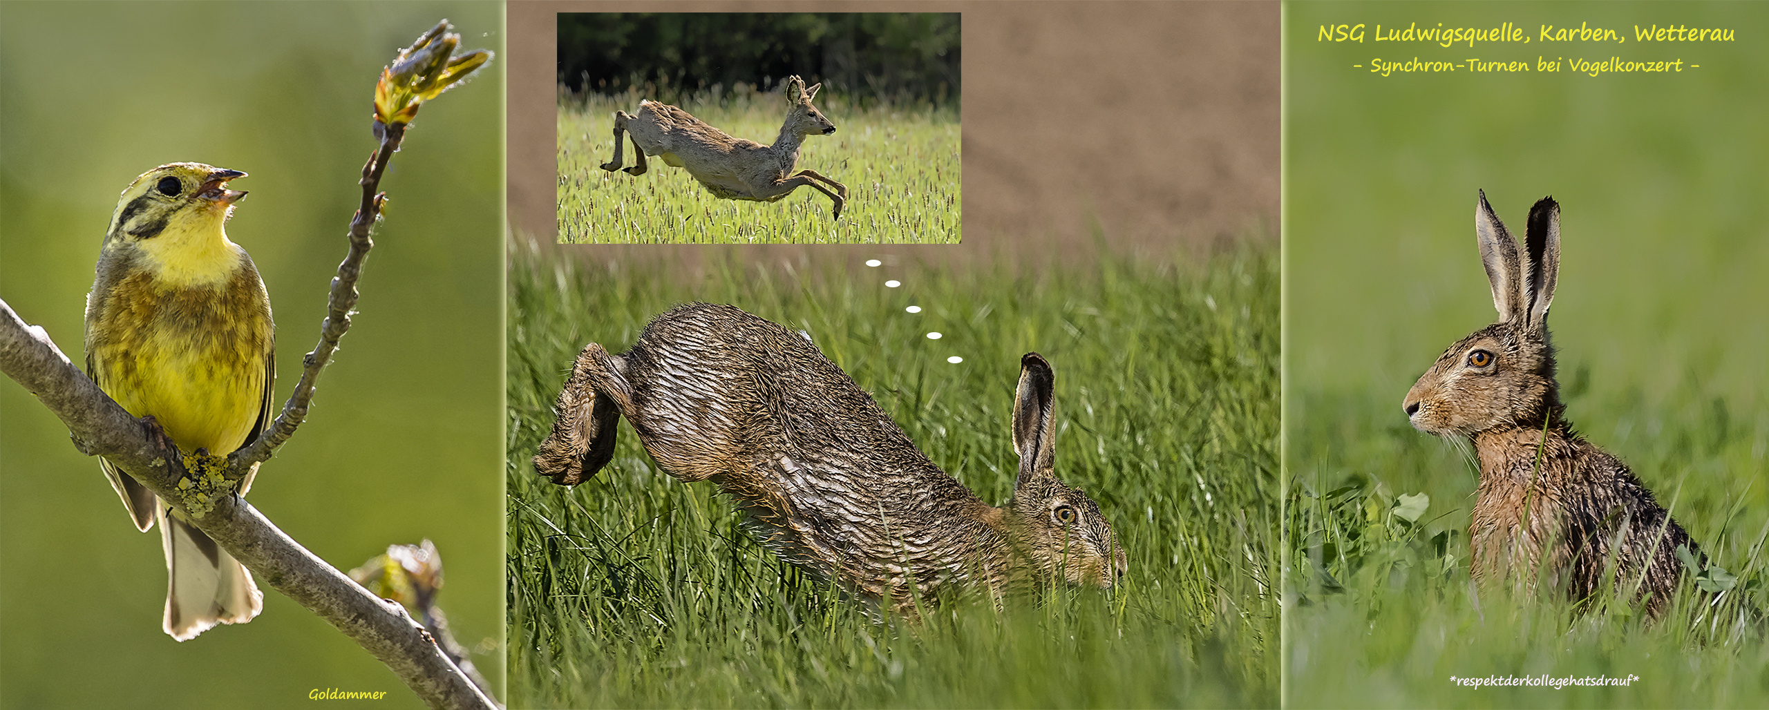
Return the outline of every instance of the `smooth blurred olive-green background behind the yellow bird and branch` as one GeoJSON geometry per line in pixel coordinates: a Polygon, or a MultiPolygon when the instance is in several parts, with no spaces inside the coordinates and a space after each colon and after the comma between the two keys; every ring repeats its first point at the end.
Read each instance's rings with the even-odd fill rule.
{"type": "MultiPolygon", "coordinates": [[[[375,78],[442,18],[465,48],[502,51],[502,7],[486,2],[0,5],[0,297],[83,362],[117,194],[172,161],[244,170],[234,187],[251,196],[228,235],[271,291],[281,403],[345,254],[375,78]]],[[[340,569],[433,539],[439,602],[499,680],[501,127],[497,60],[419,113],[382,180],[354,327],[251,489],[340,569]]],[[[131,528],[97,461],[12,381],[0,422],[0,705],[288,706],[329,687],[419,705],[269,588],[255,622],[172,641],[159,532],[131,528]]]]}

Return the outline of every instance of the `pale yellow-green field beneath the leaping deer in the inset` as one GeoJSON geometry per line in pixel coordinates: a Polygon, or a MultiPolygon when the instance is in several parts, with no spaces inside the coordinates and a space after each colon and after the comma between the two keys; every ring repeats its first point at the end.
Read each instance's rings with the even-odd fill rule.
{"type": "MultiPolygon", "coordinates": [[[[649,159],[646,175],[605,171],[614,157],[614,111],[637,111],[637,90],[559,101],[559,242],[568,244],[957,244],[959,111],[930,106],[851,106],[819,92],[835,134],[807,136],[798,170],[847,185],[831,219],[830,198],[800,187],[780,201],[720,200],[685,168],[649,159]]],[[[785,118],[780,92],[702,92],[679,104],[738,138],[773,143],[785,118]]],[[[626,141],[626,164],[633,147],[626,141]]]]}

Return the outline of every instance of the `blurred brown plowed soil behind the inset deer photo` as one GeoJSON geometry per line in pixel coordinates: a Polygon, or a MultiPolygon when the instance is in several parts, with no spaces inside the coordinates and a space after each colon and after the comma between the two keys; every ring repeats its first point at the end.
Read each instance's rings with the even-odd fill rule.
{"type": "MultiPolygon", "coordinates": [[[[778,2],[678,11],[962,12],[964,244],[812,247],[916,260],[1208,249],[1277,240],[1279,5],[1275,2],[778,2]],[[938,251],[938,253],[930,253],[938,251]]],[[[555,231],[555,12],[656,11],[649,2],[509,4],[509,223],[555,231]]],[[[586,258],[630,249],[570,247],[586,258]]],[[[771,260],[805,247],[738,247],[771,260]]],[[[621,256],[616,256],[621,254],[621,256]]]]}

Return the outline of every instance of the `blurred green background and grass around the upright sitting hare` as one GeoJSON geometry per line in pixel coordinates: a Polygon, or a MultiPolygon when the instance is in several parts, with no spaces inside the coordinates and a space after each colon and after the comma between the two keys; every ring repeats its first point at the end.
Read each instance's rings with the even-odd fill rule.
{"type": "Polygon", "coordinates": [[[1413,431],[1401,397],[1451,341],[1495,320],[1474,242],[1475,189],[1514,230],[1551,194],[1562,205],[1562,256],[1550,329],[1567,415],[1663,503],[1675,500],[1675,517],[1719,565],[1762,574],[1769,51],[1760,39],[1769,5],[1286,4],[1284,30],[1290,703],[1760,706],[1769,698],[1760,643],[1693,653],[1675,638],[1677,623],[1640,636],[1566,636],[1553,631],[1566,631],[1564,615],[1527,629],[1470,611],[1459,532],[1475,470],[1449,443],[1413,431]],[[1505,21],[1530,42],[1375,41],[1378,23],[1387,34],[1412,23],[1505,21]],[[1364,23],[1364,42],[1318,41],[1323,25],[1341,23],[1364,23]],[[1627,41],[1539,41],[1541,25],[1581,23],[1627,41]],[[1739,41],[1636,42],[1635,25],[1732,28],[1739,41]],[[1532,67],[1539,58],[1681,58],[1700,67],[1383,78],[1369,72],[1378,57],[1532,67]],[[1321,549],[1380,556],[1371,540],[1394,526],[1385,507],[1410,493],[1431,503],[1417,530],[1396,540],[1398,556],[1383,558],[1390,565],[1371,572],[1375,563],[1337,565],[1337,565],[1330,574],[1309,569],[1307,555],[1321,549]],[[1309,517],[1346,496],[1362,496],[1343,509],[1357,517],[1348,537],[1309,517]],[[1435,556],[1406,549],[1445,532],[1449,546],[1435,556]],[[1470,692],[1447,678],[1574,669],[1649,680],[1613,691],[1470,692]]]}

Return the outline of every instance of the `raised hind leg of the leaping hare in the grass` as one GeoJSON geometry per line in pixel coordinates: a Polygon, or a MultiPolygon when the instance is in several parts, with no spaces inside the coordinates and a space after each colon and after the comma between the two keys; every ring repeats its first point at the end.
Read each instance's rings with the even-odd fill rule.
{"type": "Polygon", "coordinates": [[[598,374],[605,374],[610,364],[617,366],[619,360],[596,343],[577,355],[571,378],[564,381],[554,404],[559,417],[554,431],[534,452],[536,473],[559,486],[575,486],[594,477],[614,457],[614,431],[621,410],[610,394],[594,385],[607,380],[598,374]]]}

